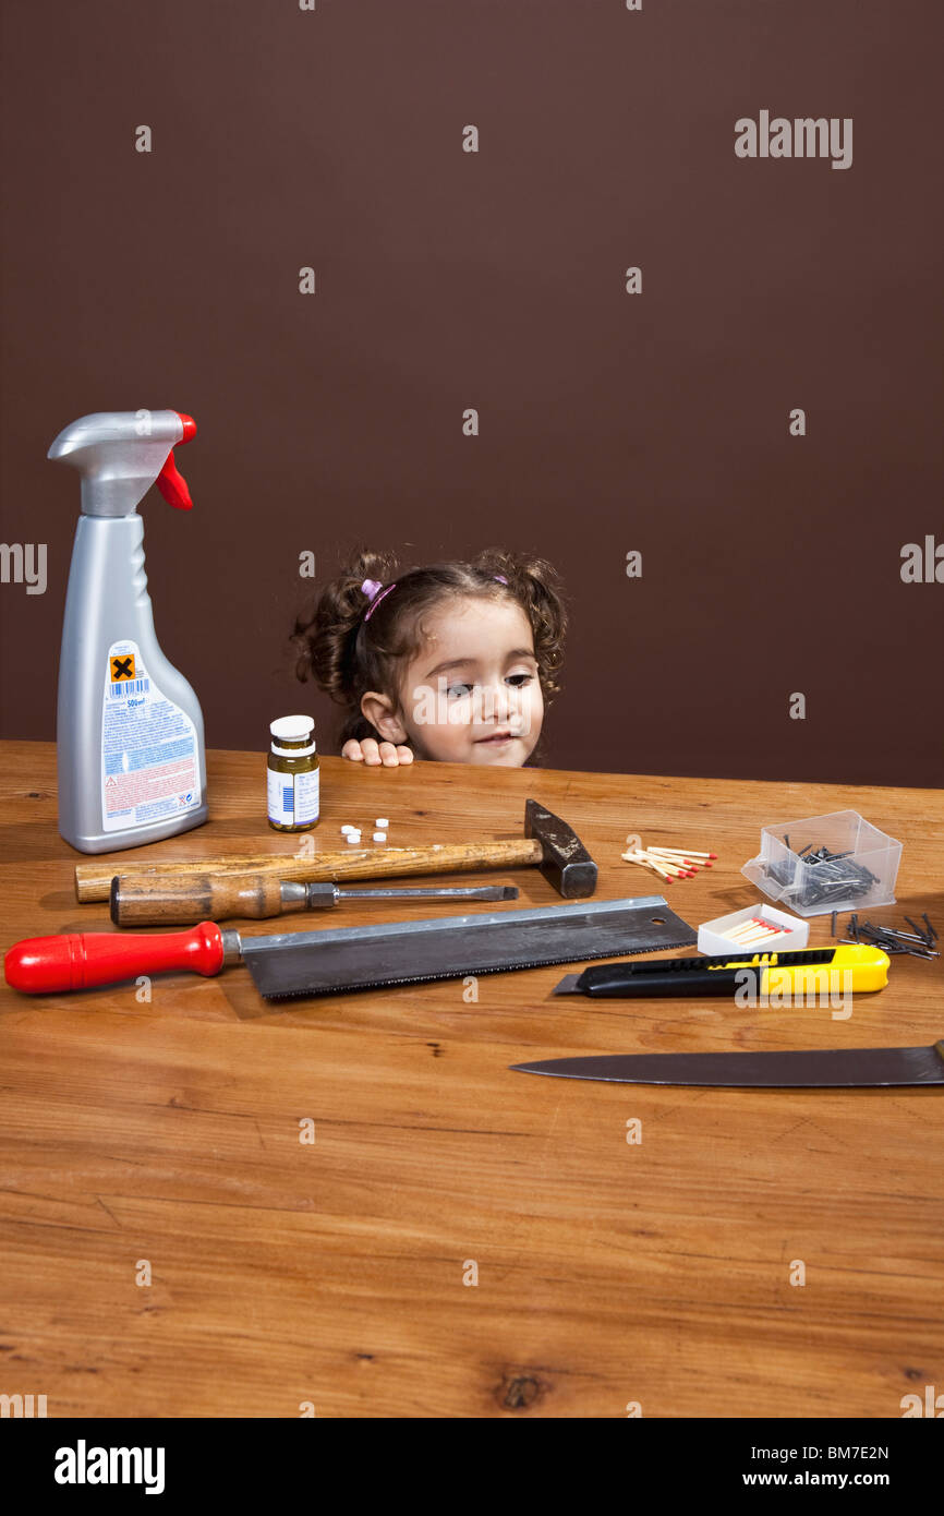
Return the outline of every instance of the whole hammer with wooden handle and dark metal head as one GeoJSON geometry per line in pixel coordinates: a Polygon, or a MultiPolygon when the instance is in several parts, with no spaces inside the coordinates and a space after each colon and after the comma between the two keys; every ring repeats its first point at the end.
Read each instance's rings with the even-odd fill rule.
{"type": "MultiPolygon", "coordinates": [[[[314,854],[309,858],[285,854],[238,854],[229,858],[186,858],[180,863],[155,863],[120,875],[120,885],[133,888],[142,901],[150,893],[162,922],[202,920],[205,881],[214,876],[217,919],[241,914],[239,899],[245,875],[273,875],[276,879],[392,879],[411,873],[450,873],[456,869],[515,869],[536,864],[565,901],[583,901],[597,887],[597,866],[577,834],[536,800],[524,805],[524,835],[500,843],[447,843],[435,847],[349,847],[345,852],[314,854]],[[188,878],[194,888],[188,891],[188,878]],[[226,885],[232,894],[226,896],[226,885]],[[195,914],[194,914],[195,913],[195,914]]],[[[76,897],[108,901],[115,866],[77,864],[76,897]]]]}

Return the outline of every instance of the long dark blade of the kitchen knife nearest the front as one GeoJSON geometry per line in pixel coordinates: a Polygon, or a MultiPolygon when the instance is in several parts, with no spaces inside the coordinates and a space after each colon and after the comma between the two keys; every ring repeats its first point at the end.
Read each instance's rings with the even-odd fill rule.
{"type": "Polygon", "coordinates": [[[930,1048],[820,1048],[789,1052],[642,1052],[511,1064],[514,1073],[609,1084],[727,1090],[871,1090],[944,1084],[944,1038],[930,1048]]]}

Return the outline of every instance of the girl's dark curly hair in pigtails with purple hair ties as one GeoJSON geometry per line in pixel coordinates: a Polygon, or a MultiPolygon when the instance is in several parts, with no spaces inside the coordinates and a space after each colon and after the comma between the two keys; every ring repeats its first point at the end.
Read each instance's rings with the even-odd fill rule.
{"type": "Polygon", "coordinates": [[[341,741],[379,737],[361,713],[368,690],[397,697],[399,670],[423,646],[423,617],[450,599],[476,596],[512,600],[532,628],[535,659],[545,703],[559,690],[567,611],[559,579],[544,558],[492,547],[471,562],[442,562],[400,570],[389,553],[358,552],[321,593],[314,611],[295,620],[295,676],[315,682],[344,709],[341,741]],[[392,585],[365,619],[365,579],[392,585]]]}

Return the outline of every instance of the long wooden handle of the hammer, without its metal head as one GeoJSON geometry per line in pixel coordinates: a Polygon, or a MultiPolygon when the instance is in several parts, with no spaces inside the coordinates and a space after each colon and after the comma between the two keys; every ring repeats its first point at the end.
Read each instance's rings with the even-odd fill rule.
{"type": "MultiPolygon", "coordinates": [[[[167,878],[168,875],[273,873],[279,879],[395,879],[409,873],[453,873],[465,869],[517,869],[538,864],[544,849],[536,837],[515,837],[495,843],[447,843],[442,847],[349,847],[345,852],[314,854],[230,854],[226,858],[180,858],[176,863],[141,863],[126,876],[167,878]]],[[[76,864],[76,899],[108,901],[115,864],[76,864]]]]}

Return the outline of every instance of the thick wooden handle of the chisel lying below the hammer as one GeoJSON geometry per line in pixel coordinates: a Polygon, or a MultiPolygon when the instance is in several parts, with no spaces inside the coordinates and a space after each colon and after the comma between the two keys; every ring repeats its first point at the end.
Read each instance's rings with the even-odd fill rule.
{"type": "Polygon", "coordinates": [[[183,926],[229,916],[264,920],[282,911],[277,873],[123,873],[112,879],[115,926],[183,926]]]}

